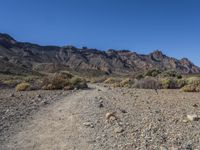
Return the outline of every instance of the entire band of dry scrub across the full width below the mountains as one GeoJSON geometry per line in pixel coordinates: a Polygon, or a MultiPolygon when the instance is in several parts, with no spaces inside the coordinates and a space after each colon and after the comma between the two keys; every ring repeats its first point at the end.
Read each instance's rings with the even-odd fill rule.
{"type": "Polygon", "coordinates": [[[175,71],[149,70],[135,76],[99,76],[81,78],[68,71],[41,76],[1,75],[3,88],[26,90],[73,90],[87,88],[87,82],[104,83],[107,86],[143,89],[181,89],[184,92],[200,92],[200,76],[182,76],[175,71]]]}

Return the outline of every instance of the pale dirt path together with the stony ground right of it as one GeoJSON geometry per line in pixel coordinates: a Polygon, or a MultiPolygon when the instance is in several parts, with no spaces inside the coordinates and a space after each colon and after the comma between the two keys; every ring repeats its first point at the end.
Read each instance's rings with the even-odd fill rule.
{"type": "MultiPolygon", "coordinates": [[[[193,150],[200,149],[200,94],[179,90],[128,89],[90,85],[42,107],[1,150],[193,150]],[[106,120],[108,112],[116,118],[106,120]]],[[[10,129],[10,130],[11,130],[10,129]]]]}

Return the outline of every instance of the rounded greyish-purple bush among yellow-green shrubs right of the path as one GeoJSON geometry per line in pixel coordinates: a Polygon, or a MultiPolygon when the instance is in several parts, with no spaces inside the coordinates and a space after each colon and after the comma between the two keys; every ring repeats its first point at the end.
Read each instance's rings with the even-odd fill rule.
{"type": "Polygon", "coordinates": [[[161,85],[158,80],[153,78],[144,78],[141,80],[136,80],[134,83],[135,88],[142,88],[142,89],[160,89],[161,85]]]}

